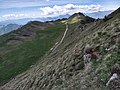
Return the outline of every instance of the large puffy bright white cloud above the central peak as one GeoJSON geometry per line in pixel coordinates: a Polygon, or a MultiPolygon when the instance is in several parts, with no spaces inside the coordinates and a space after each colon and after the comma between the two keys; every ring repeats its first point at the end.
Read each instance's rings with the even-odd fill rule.
{"type": "Polygon", "coordinates": [[[76,12],[82,12],[82,13],[91,13],[96,12],[101,9],[100,5],[73,5],[73,4],[67,4],[64,6],[53,6],[53,7],[43,7],[40,8],[41,15],[49,16],[59,16],[64,14],[73,14],[76,12]]]}

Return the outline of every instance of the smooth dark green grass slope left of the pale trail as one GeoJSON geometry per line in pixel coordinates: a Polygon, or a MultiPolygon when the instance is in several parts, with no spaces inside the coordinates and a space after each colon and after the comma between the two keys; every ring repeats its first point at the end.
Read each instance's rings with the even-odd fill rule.
{"type": "Polygon", "coordinates": [[[31,65],[40,60],[62,36],[64,30],[65,25],[63,24],[56,24],[45,30],[39,30],[34,39],[26,41],[0,56],[0,85],[26,71],[31,65]]]}

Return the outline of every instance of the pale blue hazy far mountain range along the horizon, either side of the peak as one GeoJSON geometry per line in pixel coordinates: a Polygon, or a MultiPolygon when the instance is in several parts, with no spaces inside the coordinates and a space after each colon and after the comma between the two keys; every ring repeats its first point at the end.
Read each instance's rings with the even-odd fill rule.
{"type": "MultiPolygon", "coordinates": [[[[93,18],[104,18],[105,15],[108,15],[112,12],[112,10],[110,11],[99,11],[99,12],[94,12],[94,13],[84,13],[87,16],[93,17],[93,18]]],[[[5,24],[10,24],[10,23],[15,23],[15,24],[19,24],[19,25],[24,25],[29,21],[54,21],[57,19],[62,19],[62,18],[69,18],[71,15],[66,14],[66,15],[60,15],[60,16],[56,16],[56,17],[47,17],[47,18],[24,18],[24,19],[17,19],[17,20],[6,20],[6,21],[1,21],[0,25],[5,25],[5,24]]]]}

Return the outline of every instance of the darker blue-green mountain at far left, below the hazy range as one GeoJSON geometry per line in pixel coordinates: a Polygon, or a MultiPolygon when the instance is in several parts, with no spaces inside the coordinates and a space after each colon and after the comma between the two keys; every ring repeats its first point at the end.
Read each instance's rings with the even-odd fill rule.
{"type": "Polygon", "coordinates": [[[0,35],[9,33],[13,30],[18,29],[19,27],[21,27],[21,25],[18,24],[0,25],[0,35]]]}

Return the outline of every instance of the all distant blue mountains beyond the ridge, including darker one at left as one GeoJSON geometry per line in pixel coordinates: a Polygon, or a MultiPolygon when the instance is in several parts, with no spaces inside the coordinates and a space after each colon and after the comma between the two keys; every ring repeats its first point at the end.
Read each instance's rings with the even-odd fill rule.
{"type": "MultiPolygon", "coordinates": [[[[104,16],[110,14],[112,10],[110,11],[99,11],[94,13],[85,13],[85,15],[93,17],[93,18],[104,18],[104,16]]],[[[18,29],[21,25],[24,25],[28,23],[29,21],[54,21],[62,18],[69,18],[70,15],[60,15],[57,17],[47,17],[47,18],[24,18],[24,19],[18,19],[18,20],[7,20],[7,21],[1,21],[0,22],[0,35],[6,34],[10,31],[18,29]],[[11,24],[14,23],[14,24],[11,24]]]]}

